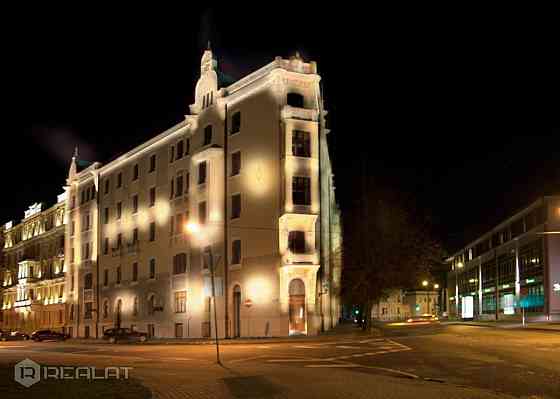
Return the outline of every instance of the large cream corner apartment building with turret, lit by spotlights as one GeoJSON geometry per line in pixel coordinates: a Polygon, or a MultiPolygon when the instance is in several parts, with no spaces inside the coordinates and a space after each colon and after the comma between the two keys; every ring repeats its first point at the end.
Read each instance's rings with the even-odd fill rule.
{"type": "Polygon", "coordinates": [[[66,195],[68,326],[155,337],[317,334],[340,318],[341,231],[320,77],[299,56],[224,86],[202,56],[185,120],[80,170],[66,195]],[[188,229],[187,229],[188,225],[188,229]],[[225,267],[224,267],[225,265],[225,267]]]}

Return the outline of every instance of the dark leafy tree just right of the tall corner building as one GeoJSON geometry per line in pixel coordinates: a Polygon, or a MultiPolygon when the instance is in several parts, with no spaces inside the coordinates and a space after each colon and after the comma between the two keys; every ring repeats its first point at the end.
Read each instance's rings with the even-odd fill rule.
{"type": "Polygon", "coordinates": [[[417,285],[442,252],[429,219],[410,197],[374,185],[365,173],[360,179],[344,214],[342,295],[360,306],[369,324],[374,303],[391,290],[417,285]]]}

